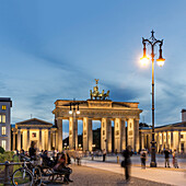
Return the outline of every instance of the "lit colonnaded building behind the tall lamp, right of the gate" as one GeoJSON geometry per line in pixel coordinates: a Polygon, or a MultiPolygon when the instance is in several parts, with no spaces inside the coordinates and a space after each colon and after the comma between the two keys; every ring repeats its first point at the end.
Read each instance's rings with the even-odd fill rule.
{"type": "MultiPolygon", "coordinates": [[[[182,109],[182,121],[155,127],[156,151],[163,151],[168,148],[172,151],[186,152],[186,109],[182,109]]],[[[151,128],[140,129],[140,148],[149,149],[151,147],[151,128]]]]}

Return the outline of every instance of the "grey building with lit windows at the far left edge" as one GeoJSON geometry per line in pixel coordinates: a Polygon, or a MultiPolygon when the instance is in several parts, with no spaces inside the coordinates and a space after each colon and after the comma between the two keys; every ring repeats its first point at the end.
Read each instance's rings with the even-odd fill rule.
{"type": "Polygon", "coordinates": [[[10,97],[0,97],[0,146],[5,150],[11,150],[11,107],[10,97]]]}

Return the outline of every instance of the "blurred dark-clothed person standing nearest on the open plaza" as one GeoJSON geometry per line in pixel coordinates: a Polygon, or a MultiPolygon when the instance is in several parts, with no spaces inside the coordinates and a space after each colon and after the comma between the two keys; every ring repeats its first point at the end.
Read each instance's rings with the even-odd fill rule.
{"type": "Polygon", "coordinates": [[[131,166],[131,160],[130,156],[132,155],[131,147],[128,146],[125,151],[123,151],[123,156],[124,156],[124,168],[125,168],[125,176],[126,176],[126,182],[130,181],[130,166],[131,166]]]}

